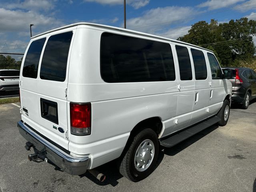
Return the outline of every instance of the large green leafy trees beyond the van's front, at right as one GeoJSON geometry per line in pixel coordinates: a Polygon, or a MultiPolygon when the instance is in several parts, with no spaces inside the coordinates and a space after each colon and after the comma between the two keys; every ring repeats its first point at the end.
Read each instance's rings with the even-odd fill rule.
{"type": "Polygon", "coordinates": [[[256,21],[248,18],[230,20],[218,24],[212,19],[210,24],[200,21],[192,25],[188,34],[178,40],[213,49],[223,66],[234,66],[235,60],[253,58],[255,46],[252,36],[256,34],[256,21]]]}

